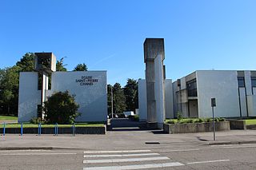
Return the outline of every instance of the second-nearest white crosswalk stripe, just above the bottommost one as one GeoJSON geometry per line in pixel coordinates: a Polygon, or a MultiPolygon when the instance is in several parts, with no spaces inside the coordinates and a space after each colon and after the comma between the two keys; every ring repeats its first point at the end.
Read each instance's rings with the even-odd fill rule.
{"type": "Polygon", "coordinates": [[[111,159],[111,160],[83,160],[83,164],[98,164],[98,163],[115,163],[115,162],[138,162],[148,160],[170,160],[167,156],[159,157],[143,157],[143,158],[128,158],[128,159],[111,159]]]}

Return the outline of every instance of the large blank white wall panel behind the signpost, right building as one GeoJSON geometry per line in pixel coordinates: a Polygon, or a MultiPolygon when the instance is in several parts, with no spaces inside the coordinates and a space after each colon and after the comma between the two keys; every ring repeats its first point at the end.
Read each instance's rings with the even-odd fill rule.
{"type": "Polygon", "coordinates": [[[198,117],[212,117],[210,99],[216,98],[215,117],[240,117],[236,71],[197,71],[198,117]]]}

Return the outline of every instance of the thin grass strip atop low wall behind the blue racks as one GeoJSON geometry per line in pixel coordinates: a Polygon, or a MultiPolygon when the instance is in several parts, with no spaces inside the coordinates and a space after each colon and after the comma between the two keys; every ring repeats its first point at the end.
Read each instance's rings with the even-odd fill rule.
{"type": "MultiPolygon", "coordinates": [[[[3,127],[3,125],[2,125],[3,127]]],[[[2,128],[0,126],[0,128],[2,128]]],[[[55,125],[41,125],[42,128],[54,128],[55,125]]],[[[58,128],[71,128],[72,125],[58,125],[58,128]]],[[[104,127],[102,123],[77,123],[75,127],[104,127]]],[[[20,124],[6,124],[6,128],[21,128],[20,124]]],[[[38,125],[23,123],[23,128],[38,128],[38,125]]]]}

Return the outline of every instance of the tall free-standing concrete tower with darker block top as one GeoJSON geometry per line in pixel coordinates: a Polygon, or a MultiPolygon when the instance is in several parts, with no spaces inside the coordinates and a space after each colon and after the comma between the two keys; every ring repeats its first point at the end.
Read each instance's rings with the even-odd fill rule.
{"type": "Polygon", "coordinates": [[[144,62],[146,63],[147,123],[151,128],[162,128],[165,119],[164,59],[164,39],[146,38],[144,62]]]}

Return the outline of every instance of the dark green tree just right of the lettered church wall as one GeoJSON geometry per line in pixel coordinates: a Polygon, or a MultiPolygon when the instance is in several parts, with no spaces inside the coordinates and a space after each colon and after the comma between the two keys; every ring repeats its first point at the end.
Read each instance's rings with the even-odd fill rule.
{"type": "Polygon", "coordinates": [[[126,97],[119,83],[113,86],[114,113],[123,113],[126,110],[126,97]]]}

